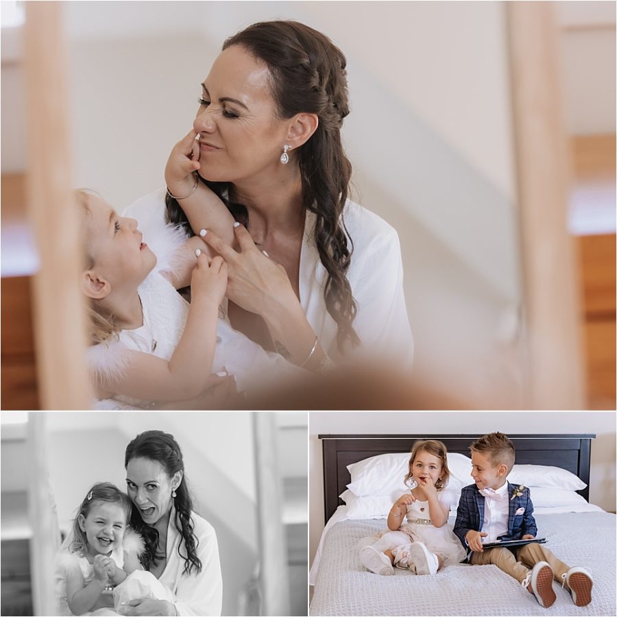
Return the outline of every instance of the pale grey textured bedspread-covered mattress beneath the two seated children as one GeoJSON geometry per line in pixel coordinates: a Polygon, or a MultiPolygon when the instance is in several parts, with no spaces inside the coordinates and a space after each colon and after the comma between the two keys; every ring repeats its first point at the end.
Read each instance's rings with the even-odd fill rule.
{"type": "MultiPolygon", "coordinates": [[[[542,608],[535,597],[496,566],[459,564],[418,577],[396,570],[373,574],[358,556],[362,537],[385,529],[385,520],[344,520],[324,537],[310,615],[567,616],[616,612],[616,518],[606,512],[537,514],[544,545],[569,566],[583,566],[594,580],[592,603],[577,607],[570,593],[553,583],[557,600],[542,608]]],[[[449,524],[452,524],[450,518],[449,524]]]]}

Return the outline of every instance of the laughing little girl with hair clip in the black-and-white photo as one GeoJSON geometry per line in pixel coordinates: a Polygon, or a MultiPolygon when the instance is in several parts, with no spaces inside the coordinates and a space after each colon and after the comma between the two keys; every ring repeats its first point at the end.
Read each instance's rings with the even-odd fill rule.
{"type": "Polygon", "coordinates": [[[144,543],[128,529],[131,509],[128,496],[108,482],[90,489],[56,557],[60,615],[92,611],[101,594],[140,568],[144,543]]]}

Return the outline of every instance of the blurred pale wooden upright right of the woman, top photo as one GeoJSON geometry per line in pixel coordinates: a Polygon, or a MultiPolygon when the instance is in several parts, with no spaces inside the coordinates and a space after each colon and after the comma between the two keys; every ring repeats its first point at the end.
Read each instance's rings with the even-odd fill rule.
{"type": "Polygon", "coordinates": [[[578,271],[568,234],[568,143],[551,2],[507,2],[527,329],[527,409],[583,409],[578,271]]]}

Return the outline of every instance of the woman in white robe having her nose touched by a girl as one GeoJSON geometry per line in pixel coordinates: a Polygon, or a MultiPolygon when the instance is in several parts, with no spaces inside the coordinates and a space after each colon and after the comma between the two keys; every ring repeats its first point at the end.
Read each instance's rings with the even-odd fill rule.
{"type": "Polygon", "coordinates": [[[199,232],[205,182],[243,223],[230,230],[235,246],[211,230],[204,237],[228,263],[236,330],[310,371],[358,351],[407,370],[413,339],[398,235],[348,199],[341,50],[302,23],[253,24],[226,40],[201,87],[195,173],[167,178],[167,196],[144,197],[126,215],[165,213],[199,232]]]}

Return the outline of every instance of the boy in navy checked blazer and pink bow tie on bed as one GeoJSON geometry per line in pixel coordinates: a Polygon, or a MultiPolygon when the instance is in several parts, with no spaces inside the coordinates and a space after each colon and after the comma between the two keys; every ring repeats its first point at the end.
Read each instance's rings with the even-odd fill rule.
{"type": "Polygon", "coordinates": [[[484,435],[470,450],[474,484],[461,492],[454,527],[468,549],[466,561],[474,566],[496,565],[520,581],[543,607],[555,602],[553,577],[559,583],[565,581],[575,605],[588,605],[593,584],[588,570],[570,568],[542,544],[483,549],[483,542],[532,539],[537,527],[529,488],[506,481],[514,465],[514,445],[507,435],[484,435]]]}

